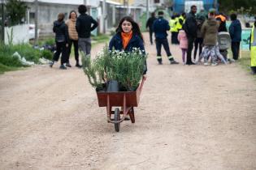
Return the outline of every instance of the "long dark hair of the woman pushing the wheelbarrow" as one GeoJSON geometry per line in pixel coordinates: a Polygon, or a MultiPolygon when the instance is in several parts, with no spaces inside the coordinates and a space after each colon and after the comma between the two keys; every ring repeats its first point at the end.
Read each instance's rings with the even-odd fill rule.
{"type": "Polygon", "coordinates": [[[137,34],[138,36],[140,36],[141,39],[143,40],[143,36],[141,34],[141,29],[140,29],[139,25],[130,16],[124,16],[124,18],[120,20],[120,22],[118,24],[118,28],[116,28],[115,32],[116,33],[123,32],[122,23],[124,23],[124,21],[128,21],[129,23],[132,23],[132,32],[134,34],[137,34]]]}

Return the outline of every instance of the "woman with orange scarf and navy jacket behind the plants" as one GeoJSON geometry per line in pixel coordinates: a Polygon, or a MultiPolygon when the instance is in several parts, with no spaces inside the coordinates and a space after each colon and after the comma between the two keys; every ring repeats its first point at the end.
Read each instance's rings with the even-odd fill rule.
{"type": "MultiPolygon", "coordinates": [[[[115,32],[109,43],[109,50],[132,52],[133,48],[137,48],[141,50],[141,53],[145,54],[141,29],[130,16],[125,16],[120,20],[115,32]]],[[[144,74],[146,74],[146,71],[147,66],[145,62],[144,74]]]]}

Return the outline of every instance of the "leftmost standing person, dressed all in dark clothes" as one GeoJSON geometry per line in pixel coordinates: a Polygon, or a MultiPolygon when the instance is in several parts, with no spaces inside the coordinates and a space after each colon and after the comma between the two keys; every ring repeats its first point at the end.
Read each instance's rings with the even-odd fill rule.
{"type": "Polygon", "coordinates": [[[54,53],[53,61],[50,62],[50,67],[54,66],[54,62],[58,62],[61,53],[60,69],[67,69],[64,63],[67,62],[68,33],[64,17],[65,15],[60,13],[58,20],[54,21],[53,31],[55,32],[56,53],[54,53]]]}

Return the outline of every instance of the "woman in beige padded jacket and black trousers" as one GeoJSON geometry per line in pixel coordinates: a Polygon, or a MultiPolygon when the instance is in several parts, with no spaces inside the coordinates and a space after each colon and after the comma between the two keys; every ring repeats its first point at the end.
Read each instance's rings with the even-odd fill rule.
{"type": "Polygon", "coordinates": [[[76,32],[76,11],[71,11],[69,14],[69,19],[67,20],[67,29],[68,29],[68,36],[69,36],[69,42],[68,42],[68,48],[67,48],[67,64],[66,66],[72,67],[69,63],[69,57],[72,49],[72,44],[74,45],[74,52],[75,52],[75,58],[76,58],[76,66],[81,67],[79,64],[79,53],[78,53],[78,34],[76,32]]]}

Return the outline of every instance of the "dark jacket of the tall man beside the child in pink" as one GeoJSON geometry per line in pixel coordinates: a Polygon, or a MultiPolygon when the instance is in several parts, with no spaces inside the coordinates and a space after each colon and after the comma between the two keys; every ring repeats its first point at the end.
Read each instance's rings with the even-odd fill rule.
{"type": "Polygon", "coordinates": [[[186,32],[186,35],[188,37],[194,37],[194,38],[197,37],[196,15],[194,15],[192,12],[189,12],[183,27],[184,27],[184,32],[186,32]]]}

